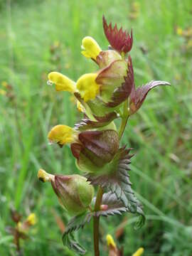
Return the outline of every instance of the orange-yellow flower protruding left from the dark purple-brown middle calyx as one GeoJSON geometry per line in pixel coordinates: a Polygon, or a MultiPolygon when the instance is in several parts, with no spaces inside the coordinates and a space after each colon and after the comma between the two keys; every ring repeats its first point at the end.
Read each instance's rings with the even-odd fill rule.
{"type": "Polygon", "coordinates": [[[63,124],[56,125],[48,133],[49,141],[56,142],[60,146],[63,146],[66,143],[75,142],[77,136],[78,132],[76,132],[75,129],[63,124]]]}

